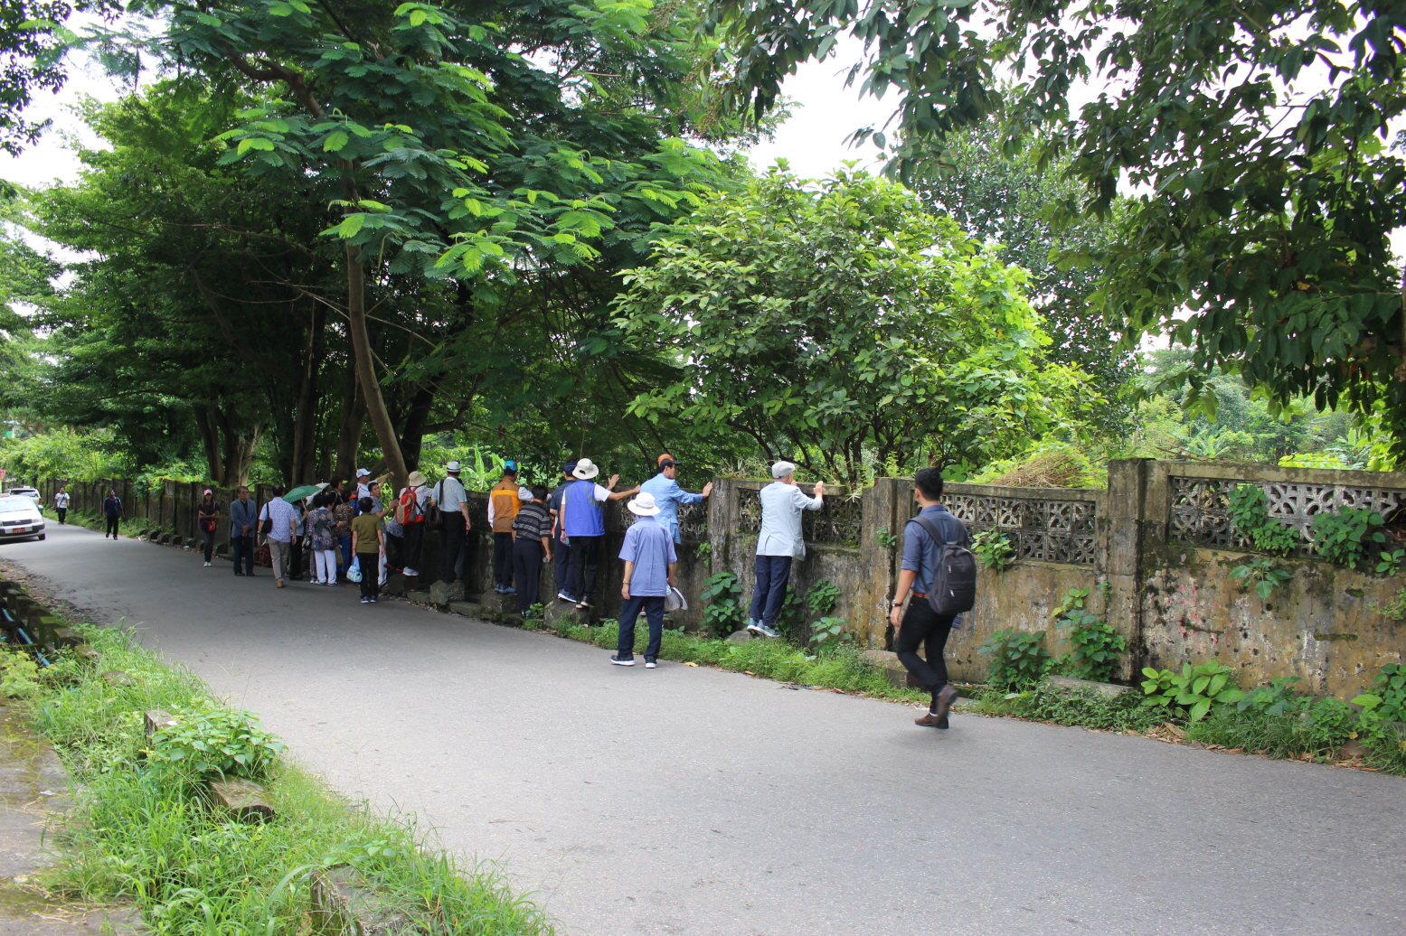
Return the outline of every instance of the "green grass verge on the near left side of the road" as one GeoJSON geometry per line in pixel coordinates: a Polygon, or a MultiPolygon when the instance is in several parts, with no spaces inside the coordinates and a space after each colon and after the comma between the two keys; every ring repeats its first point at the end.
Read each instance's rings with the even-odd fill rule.
{"type": "Polygon", "coordinates": [[[308,877],[347,863],[434,935],[538,935],[551,923],[492,866],[430,847],[408,817],[380,817],[281,762],[263,780],[277,818],[245,825],[191,795],[188,777],[142,758],[141,713],[218,706],[188,670],[129,632],[83,627],[101,672],[60,659],[21,687],[37,729],[82,784],[59,836],[65,859],[46,885],[84,902],[135,902],[156,933],[274,936],[305,932],[308,877]]]}

